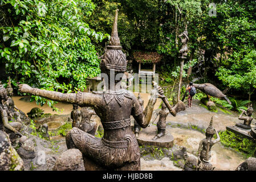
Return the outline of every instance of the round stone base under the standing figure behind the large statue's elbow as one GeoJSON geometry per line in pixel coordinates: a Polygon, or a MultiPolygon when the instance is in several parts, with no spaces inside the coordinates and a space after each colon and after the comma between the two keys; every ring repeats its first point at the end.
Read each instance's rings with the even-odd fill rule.
{"type": "Polygon", "coordinates": [[[139,133],[139,137],[137,138],[137,142],[139,146],[156,146],[156,147],[173,147],[173,135],[166,131],[165,135],[156,140],[152,140],[157,134],[157,127],[155,125],[151,125],[145,129],[141,129],[139,133]]]}

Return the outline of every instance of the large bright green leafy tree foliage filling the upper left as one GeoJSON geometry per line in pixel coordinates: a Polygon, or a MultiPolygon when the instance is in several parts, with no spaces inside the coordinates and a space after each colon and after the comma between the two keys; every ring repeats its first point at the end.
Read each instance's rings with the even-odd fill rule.
{"type": "MultiPolygon", "coordinates": [[[[86,77],[100,73],[91,39],[108,38],[84,21],[91,0],[0,1],[0,59],[14,82],[70,93],[86,89],[86,77]]],[[[15,85],[16,86],[16,85],[15,85]]],[[[32,97],[37,104],[55,102],[32,97]]]]}

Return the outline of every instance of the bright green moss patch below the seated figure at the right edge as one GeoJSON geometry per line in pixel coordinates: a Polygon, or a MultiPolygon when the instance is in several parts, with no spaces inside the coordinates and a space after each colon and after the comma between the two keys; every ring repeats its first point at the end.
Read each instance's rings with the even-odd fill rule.
{"type": "Polygon", "coordinates": [[[234,148],[234,150],[241,152],[247,158],[253,155],[256,144],[253,140],[242,138],[231,131],[224,131],[220,133],[221,143],[226,147],[234,148]]]}

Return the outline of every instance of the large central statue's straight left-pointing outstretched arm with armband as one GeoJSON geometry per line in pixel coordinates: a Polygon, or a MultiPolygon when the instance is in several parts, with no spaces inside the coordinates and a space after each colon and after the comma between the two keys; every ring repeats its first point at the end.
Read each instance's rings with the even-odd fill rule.
{"type": "Polygon", "coordinates": [[[77,94],[76,93],[60,93],[55,91],[42,90],[38,88],[31,88],[31,86],[27,84],[19,85],[19,92],[30,93],[34,96],[44,97],[52,101],[78,104],[80,106],[81,105],[94,106],[95,104],[97,104],[96,103],[97,99],[95,98],[96,95],[93,93],[84,93],[79,91],[77,94]]]}

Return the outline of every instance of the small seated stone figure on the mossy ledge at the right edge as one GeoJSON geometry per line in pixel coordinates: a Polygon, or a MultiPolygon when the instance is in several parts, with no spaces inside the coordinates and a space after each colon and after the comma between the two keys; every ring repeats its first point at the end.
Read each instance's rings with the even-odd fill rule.
{"type": "Polygon", "coordinates": [[[247,111],[242,110],[242,113],[239,115],[238,119],[243,120],[243,123],[236,123],[235,126],[240,127],[241,129],[250,130],[251,129],[251,121],[253,121],[253,106],[250,105],[247,111]],[[245,114],[245,116],[243,116],[245,114]]]}

